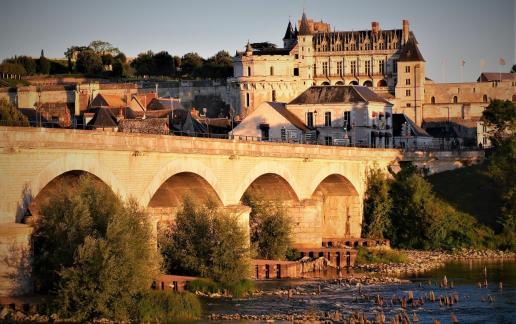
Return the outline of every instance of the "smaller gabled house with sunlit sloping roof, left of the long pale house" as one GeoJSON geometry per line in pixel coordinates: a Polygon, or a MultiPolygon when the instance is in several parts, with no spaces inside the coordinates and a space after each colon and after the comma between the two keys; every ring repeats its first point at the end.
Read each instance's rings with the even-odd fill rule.
{"type": "Polygon", "coordinates": [[[230,133],[240,140],[304,143],[315,130],[306,126],[280,102],[263,102],[230,133]]]}

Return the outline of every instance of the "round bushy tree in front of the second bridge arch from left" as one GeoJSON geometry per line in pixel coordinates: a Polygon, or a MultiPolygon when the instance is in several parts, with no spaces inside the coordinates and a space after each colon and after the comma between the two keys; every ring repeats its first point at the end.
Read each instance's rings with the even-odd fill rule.
{"type": "Polygon", "coordinates": [[[231,284],[247,277],[249,247],[238,220],[213,204],[195,206],[186,198],[158,245],[168,273],[209,277],[231,284]]]}

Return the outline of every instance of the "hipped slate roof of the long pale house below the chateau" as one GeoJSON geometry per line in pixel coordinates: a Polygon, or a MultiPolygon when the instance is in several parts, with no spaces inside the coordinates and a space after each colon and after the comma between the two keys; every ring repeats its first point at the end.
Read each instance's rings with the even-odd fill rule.
{"type": "Polygon", "coordinates": [[[315,105],[352,102],[381,102],[390,104],[389,101],[363,86],[313,86],[305,90],[294,100],[291,105],[315,105]]]}

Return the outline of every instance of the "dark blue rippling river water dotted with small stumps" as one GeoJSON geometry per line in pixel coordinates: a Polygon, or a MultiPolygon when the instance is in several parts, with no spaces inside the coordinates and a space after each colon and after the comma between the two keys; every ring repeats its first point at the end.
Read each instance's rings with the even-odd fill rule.
{"type": "MultiPolygon", "coordinates": [[[[516,262],[471,261],[448,263],[438,270],[419,275],[406,275],[411,283],[366,285],[345,285],[337,282],[321,283],[318,281],[268,281],[260,282],[257,287],[264,291],[278,288],[296,288],[298,291],[316,292],[321,287],[320,295],[294,295],[292,299],[280,296],[261,296],[241,300],[204,300],[204,313],[211,314],[302,314],[307,312],[335,312],[343,315],[355,311],[364,312],[373,320],[376,312],[383,311],[390,318],[402,311],[399,303],[391,305],[391,296],[407,295],[413,291],[414,298],[424,297],[433,291],[436,298],[440,295],[457,294],[459,302],[451,307],[440,306],[439,302],[425,302],[422,307],[407,307],[407,314],[412,320],[415,312],[419,323],[432,323],[440,320],[451,323],[455,314],[460,323],[516,323],[516,262]],[[478,287],[484,282],[487,273],[487,287],[478,287]],[[446,275],[453,288],[441,288],[437,282],[446,275]],[[499,283],[503,283],[500,289],[499,283]],[[385,300],[383,307],[374,302],[381,296],[385,300]]],[[[347,317],[347,316],[346,316],[347,317]]],[[[243,321],[245,322],[245,321],[243,321]]],[[[250,321],[247,321],[250,323],[250,321]]],[[[256,322],[254,322],[256,323],[256,322]]]]}

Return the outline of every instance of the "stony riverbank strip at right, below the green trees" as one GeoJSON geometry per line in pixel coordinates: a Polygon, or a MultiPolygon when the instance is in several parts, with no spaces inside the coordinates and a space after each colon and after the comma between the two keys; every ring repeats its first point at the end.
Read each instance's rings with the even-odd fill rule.
{"type": "Polygon", "coordinates": [[[396,250],[407,256],[406,263],[356,264],[353,269],[389,275],[421,273],[443,267],[451,261],[516,260],[515,252],[460,249],[455,251],[396,250]]]}

